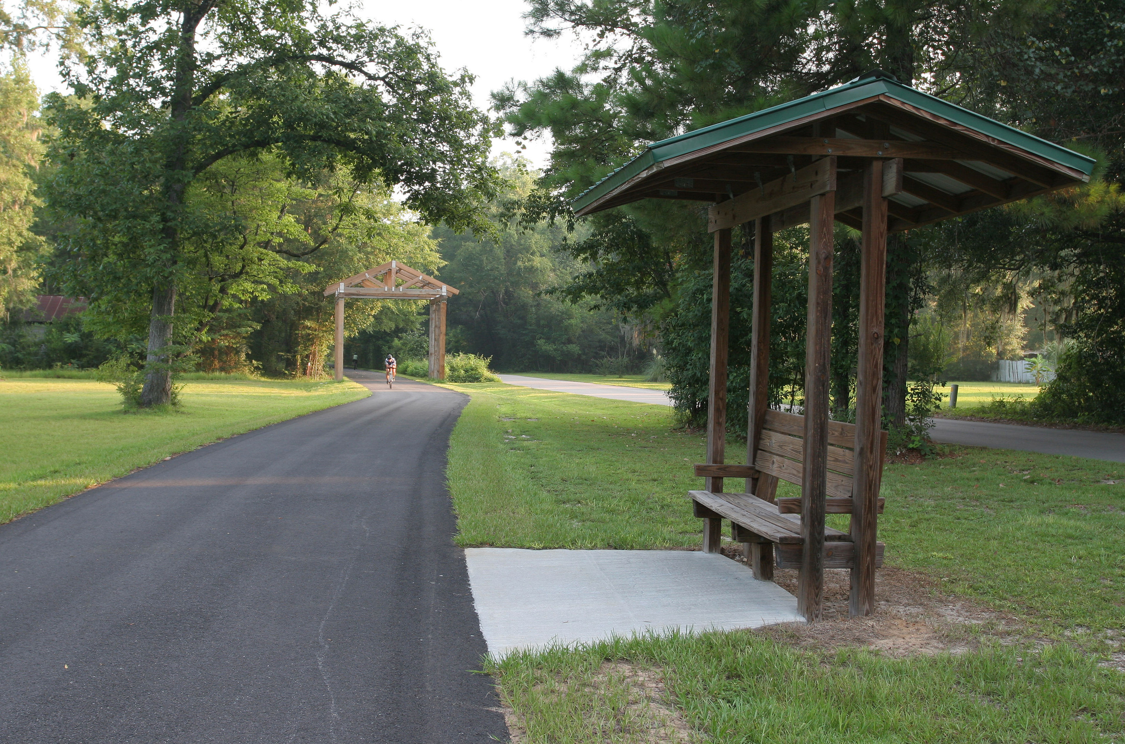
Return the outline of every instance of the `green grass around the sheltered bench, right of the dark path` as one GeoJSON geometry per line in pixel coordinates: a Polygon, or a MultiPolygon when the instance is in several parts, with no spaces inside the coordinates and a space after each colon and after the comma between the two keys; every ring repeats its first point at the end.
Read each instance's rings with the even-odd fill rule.
{"type": "MultiPolygon", "coordinates": [[[[472,396],[450,450],[461,545],[700,543],[685,495],[704,442],[672,431],[670,410],[451,387],[472,396]]],[[[659,701],[637,697],[645,674],[688,726],[667,741],[1125,741],[1125,674],[1098,665],[1125,631],[1123,476],[1112,463],[972,448],[886,466],[888,565],[1014,615],[1023,639],[894,658],[716,633],[513,655],[489,671],[528,742],[657,741],[645,710],[659,701]]]]}

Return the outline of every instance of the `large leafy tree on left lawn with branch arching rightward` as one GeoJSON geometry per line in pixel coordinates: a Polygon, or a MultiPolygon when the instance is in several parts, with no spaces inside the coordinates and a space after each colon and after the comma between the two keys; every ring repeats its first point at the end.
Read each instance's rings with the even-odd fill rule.
{"type": "Polygon", "coordinates": [[[170,400],[188,237],[212,228],[189,191],[225,159],[269,151],[298,177],[346,167],[430,222],[485,224],[492,125],[420,34],[310,0],[105,0],[76,25],[88,54],[62,65],[74,95],[45,106],[58,129],[46,200],[74,222],[56,278],[96,314],[151,298],[142,405],[170,400]]]}

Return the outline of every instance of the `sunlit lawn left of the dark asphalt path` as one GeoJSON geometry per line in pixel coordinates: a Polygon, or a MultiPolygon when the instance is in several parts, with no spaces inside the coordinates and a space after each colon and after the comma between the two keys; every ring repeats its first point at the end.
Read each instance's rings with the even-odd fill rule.
{"type": "Polygon", "coordinates": [[[352,382],[187,382],[171,412],[123,413],[111,385],[0,380],[0,523],[170,455],[366,397],[352,382]]]}

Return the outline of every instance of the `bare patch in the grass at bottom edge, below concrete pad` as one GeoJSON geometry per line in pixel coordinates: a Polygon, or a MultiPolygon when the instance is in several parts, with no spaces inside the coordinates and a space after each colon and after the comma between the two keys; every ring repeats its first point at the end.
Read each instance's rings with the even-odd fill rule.
{"type": "MultiPolygon", "coordinates": [[[[638,744],[690,744],[701,741],[668,701],[668,690],[659,670],[624,661],[605,662],[597,674],[580,684],[577,696],[588,698],[583,706],[583,728],[590,742],[629,741],[638,744]]],[[[557,688],[559,694],[567,685],[557,688]]],[[[528,739],[524,720],[506,702],[504,719],[513,744],[528,739]]]]}

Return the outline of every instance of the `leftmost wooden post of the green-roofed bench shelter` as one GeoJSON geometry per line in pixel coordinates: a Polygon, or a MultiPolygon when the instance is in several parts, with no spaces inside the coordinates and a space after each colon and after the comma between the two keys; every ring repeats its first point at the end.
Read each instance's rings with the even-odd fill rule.
{"type": "MultiPolygon", "coordinates": [[[[706,398],[706,461],[723,463],[727,446],[727,356],[730,331],[730,230],[714,233],[714,266],[711,277],[711,375],[706,398]]],[[[722,492],[722,478],[709,477],[705,488],[722,492]]],[[[703,550],[718,553],[721,520],[704,520],[703,550]]]]}

